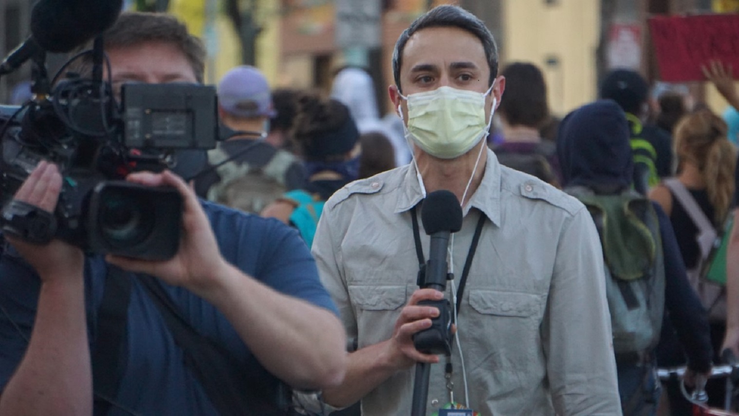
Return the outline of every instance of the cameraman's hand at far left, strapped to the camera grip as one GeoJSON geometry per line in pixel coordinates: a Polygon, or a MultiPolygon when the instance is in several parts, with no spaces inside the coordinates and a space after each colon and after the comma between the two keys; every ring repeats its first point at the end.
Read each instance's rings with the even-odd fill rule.
{"type": "MultiPolygon", "coordinates": [[[[59,199],[61,183],[61,174],[56,165],[42,160],[18,188],[15,199],[52,213],[59,199]]],[[[6,237],[43,282],[77,279],[84,272],[82,250],[66,242],[54,239],[47,245],[33,245],[10,235],[6,237]]]]}

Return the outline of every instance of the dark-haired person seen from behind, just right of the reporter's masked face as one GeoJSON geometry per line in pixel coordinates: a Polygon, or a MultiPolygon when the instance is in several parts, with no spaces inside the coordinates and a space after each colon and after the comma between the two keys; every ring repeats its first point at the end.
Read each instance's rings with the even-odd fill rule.
{"type": "Polygon", "coordinates": [[[562,181],[556,146],[542,140],[539,129],[549,120],[547,86],[534,64],[514,62],[503,69],[505,88],[498,107],[503,122],[503,143],[493,147],[503,166],[534,175],[551,185],[562,181]]]}

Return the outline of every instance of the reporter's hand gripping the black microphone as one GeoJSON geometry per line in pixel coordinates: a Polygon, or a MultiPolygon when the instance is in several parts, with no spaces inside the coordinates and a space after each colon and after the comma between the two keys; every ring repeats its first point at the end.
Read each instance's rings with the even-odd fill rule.
{"type": "Polygon", "coordinates": [[[439,316],[435,307],[419,305],[423,300],[440,300],[444,294],[435,289],[416,290],[403,310],[398,321],[395,321],[395,330],[392,338],[386,342],[386,361],[398,369],[405,369],[417,362],[438,363],[439,357],[432,354],[423,354],[415,348],[412,335],[431,327],[431,319],[439,316]]]}

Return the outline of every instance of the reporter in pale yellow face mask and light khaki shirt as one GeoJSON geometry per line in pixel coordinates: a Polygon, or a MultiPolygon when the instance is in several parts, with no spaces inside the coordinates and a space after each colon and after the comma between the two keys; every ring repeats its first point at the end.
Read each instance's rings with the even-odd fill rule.
{"type": "Polygon", "coordinates": [[[432,364],[426,408],[438,415],[462,406],[480,415],[620,415],[590,215],[551,185],[501,166],[486,147],[505,89],[491,33],[460,7],[436,7],[398,39],[393,70],[389,94],[413,163],[334,194],[313,242],[357,347],[324,402],[361,399],[363,415],[409,415],[420,362],[432,364]],[[429,237],[414,216],[441,189],[463,211],[446,293],[416,280],[429,237]],[[452,355],[423,354],[412,335],[438,310],[418,302],[445,297],[459,299],[452,355]]]}

